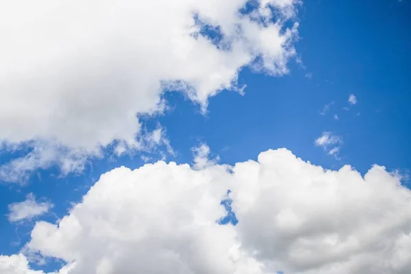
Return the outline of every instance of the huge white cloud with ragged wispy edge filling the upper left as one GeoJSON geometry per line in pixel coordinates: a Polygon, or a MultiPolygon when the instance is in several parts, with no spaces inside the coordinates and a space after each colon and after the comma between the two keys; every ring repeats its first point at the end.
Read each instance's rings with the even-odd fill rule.
{"type": "Polygon", "coordinates": [[[284,24],[299,1],[254,1],[243,14],[245,3],[8,1],[0,10],[0,142],[55,147],[28,155],[29,165],[81,171],[86,155],[113,141],[116,152],[140,149],[138,115],[164,109],[164,88],[205,110],[210,96],[237,88],[243,66],[287,73],[298,24],[284,24]],[[205,25],[218,27],[216,39],[203,35],[205,25]]]}

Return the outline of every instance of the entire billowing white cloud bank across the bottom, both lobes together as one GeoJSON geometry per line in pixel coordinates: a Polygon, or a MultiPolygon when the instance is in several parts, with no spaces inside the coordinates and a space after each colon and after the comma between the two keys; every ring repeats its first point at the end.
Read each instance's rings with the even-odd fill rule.
{"type": "Polygon", "coordinates": [[[121,167],[58,225],[38,222],[27,249],[73,263],[68,274],[406,274],[411,191],[382,166],[362,177],[286,149],[199,170],[121,167]],[[236,226],[216,223],[227,189],[236,226]]]}

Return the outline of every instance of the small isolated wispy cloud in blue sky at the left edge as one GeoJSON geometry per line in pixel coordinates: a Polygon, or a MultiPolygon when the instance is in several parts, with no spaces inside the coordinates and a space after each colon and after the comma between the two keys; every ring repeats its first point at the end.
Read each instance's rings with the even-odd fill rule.
{"type": "Polygon", "coordinates": [[[36,197],[30,193],[25,201],[10,203],[8,206],[8,219],[10,222],[30,220],[49,212],[53,208],[53,203],[48,201],[36,201],[36,197]]]}

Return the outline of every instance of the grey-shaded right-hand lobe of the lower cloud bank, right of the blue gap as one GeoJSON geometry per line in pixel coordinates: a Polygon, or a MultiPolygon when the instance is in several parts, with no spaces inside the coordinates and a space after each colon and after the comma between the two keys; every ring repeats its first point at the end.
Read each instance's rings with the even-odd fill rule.
{"type": "Polygon", "coordinates": [[[382,166],[325,171],[289,151],[258,160],[232,197],[242,245],[260,261],[284,273],[410,272],[411,191],[399,177],[382,166]]]}

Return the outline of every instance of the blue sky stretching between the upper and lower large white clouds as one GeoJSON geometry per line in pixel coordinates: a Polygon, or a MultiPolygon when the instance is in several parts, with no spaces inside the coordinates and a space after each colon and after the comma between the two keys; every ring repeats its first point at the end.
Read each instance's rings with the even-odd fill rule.
{"type": "MultiPolygon", "coordinates": [[[[297,5],[299,40],[295,58],[287,65],[289,73],[273,76],[245,67],[238,75],[238,86],[247,86],[243,95],[223,90],[210,97],[207,112],[202,113],[199,103],[181,92],[166,92],[162,97],[169,108],[140,120],[147,130],[161,125],[174,155],[164,145],[120,157],[107,149],[103,158],[91,158],[82,172],[62,176],[53,165],[32,171],[23,185],[2,182],[0,254],[18,253],[30,240],[36,221],[55,223],[68,214],[102,173],[117,166],[136,169],[145,164],[141,155],[155,162],[164,153],[166,162],[192,164],[192,148],[202,143],[221,164],[257,160],[262,151],[285,147],[325,169],[349,164],[364,175],[378,164],[407,175],[411,169],[408,2],[319,0],[297,5]],[[355,95],[355,104],[349,103],[350,95],[355,95]],[[325,132],[338,141],[323,148],[315,140],[325,132]],[[334,147],[338,154],[329,155],[334,147]],[[24,201],[29,193],[38,201],[53,203],[53,208],[32,220],[11,223],[10,203],[24,201]]],[[[25,153],[4,149],[0,164],[25,153]]],[[[33,267],[50,271],[56,265],[33,267]]]]}

